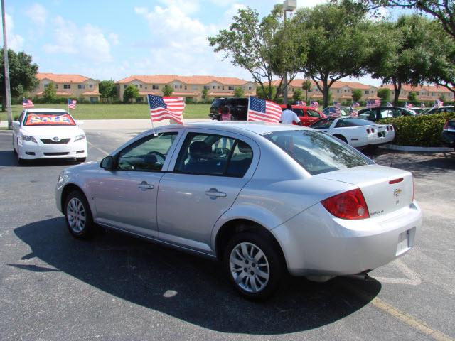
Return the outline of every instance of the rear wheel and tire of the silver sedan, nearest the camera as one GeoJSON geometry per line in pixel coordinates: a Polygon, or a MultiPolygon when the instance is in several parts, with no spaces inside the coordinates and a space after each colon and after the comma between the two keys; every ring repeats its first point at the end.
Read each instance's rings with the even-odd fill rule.
{"type": "Polygon", "coordinates": [[[284,261],[276,243],[257,231],[235,234],[225,248],[223,262],[234,288],[252,301],[272,296],[284,274],[284,261]]]}

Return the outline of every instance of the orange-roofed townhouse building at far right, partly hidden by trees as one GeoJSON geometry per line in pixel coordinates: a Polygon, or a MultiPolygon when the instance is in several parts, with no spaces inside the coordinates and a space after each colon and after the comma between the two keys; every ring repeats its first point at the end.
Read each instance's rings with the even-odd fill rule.
{"type": "MultiPolygon", "coordinates": [[[[395,96],[395,89],[393,85],[382,85],[390,89],[391,99],[395,96]]],[[[435,99],[444,99],[444,102],[454,102],[454,93],[446,87],[440,87],[439,85],[419,85],[418,87],[412,87],[412,85],[402,85],[400,95],[398,99],[400,101],[407,102],[407,98],[410,92],[415,92],[419,102],[434,102],[435,99]]]]}

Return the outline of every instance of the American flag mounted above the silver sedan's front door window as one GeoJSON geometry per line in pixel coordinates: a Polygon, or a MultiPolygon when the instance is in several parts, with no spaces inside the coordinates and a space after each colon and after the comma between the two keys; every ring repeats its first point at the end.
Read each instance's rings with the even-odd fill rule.
{"type": "Polygon", "coordinates": [[[152,121],[173,119],[178,124],[183,124],[183,97],[161,97],[153,94],[149,97],[150,117],[152,121]]]}

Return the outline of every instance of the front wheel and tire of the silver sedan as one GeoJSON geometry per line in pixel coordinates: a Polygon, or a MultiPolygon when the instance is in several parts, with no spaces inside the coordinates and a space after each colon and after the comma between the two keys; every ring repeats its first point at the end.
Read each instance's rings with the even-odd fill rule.
{"type": "Polygon", "coordinates": [[[89,239],[95,232],[92,211],[85,195],[80,190],[74,190],[65,199],[66,226],[73,237],[89,239]]]}

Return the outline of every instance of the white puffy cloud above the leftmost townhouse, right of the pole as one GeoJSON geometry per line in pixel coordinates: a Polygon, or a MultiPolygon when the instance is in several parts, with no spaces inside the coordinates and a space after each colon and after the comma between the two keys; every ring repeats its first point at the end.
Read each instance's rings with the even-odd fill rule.
{"type": "Polygon", "coordinates": [[[66,21],[61,16],[55,18],[54,25],[54,42],[44,45],[45,52],[78,53],[82,60],[87,59],[100,63],[112,60],[110,43],[97,26],[87,24],[79,28],[75,23],[66,21]]]}

